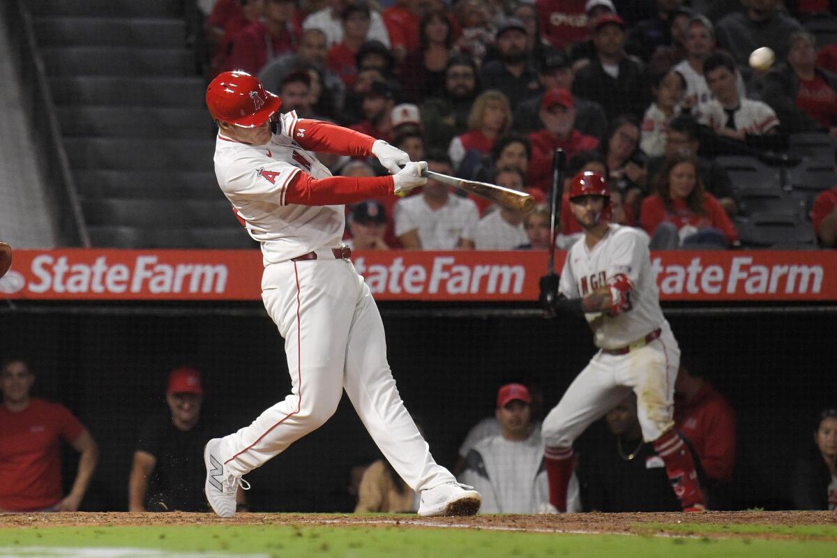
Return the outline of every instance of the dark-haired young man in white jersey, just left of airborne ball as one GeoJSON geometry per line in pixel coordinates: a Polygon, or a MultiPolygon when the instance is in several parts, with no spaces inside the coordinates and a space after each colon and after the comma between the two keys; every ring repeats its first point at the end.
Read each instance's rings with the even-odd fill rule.
{"type": "Polygon", "coordinates": [[[697,105],[695,119],[709,126],[718,136],[744,141],[748,134],[763,136],[777,133],[779,120],[766,103],[738,95],[738,73],[732,56],[712,54],[703,63],[706,83],[714,99],[697,105]]]}

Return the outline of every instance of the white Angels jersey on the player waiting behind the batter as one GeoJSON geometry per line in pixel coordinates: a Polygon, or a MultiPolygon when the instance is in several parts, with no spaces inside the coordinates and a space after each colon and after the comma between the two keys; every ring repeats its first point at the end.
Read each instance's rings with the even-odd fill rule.
{"type": "Polygon", "coordinates": [[[633,289],[631,309],[619,315],[587,314],[594,342],[602,349],[619,349],[665,325],[660,294],[651,269],[648,241],[637,229],[610,224],[593,248],[584,237],[567,252],[559,289],[567,299],[578,299],[607,284],[615,274],[625,274],[633,289]]]}

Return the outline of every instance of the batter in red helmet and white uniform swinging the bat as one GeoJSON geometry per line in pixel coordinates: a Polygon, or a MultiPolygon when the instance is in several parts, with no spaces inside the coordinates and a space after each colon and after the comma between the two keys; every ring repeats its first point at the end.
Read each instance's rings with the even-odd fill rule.
{"type": "Polygon", "coordinates": [[[249,488],[242,476],[326,422],[345,389],[378,448],[421,494],[419,514],[475,514],[480,494],[435,463],[398,396],[381,316],[341,246],[344,204],[421,186],[427,163],[341,126],[280,115],[280,98],[244,72],[218,75],[206,101],[218,124],[218,184],[261,244],[262,299],[285,338],[291,379],[283,401],[207,443],[209,504],[232,517],[238,485],[249,488]],[[377,156],[394,176],[332,177],[311,151],[377,156]]]}

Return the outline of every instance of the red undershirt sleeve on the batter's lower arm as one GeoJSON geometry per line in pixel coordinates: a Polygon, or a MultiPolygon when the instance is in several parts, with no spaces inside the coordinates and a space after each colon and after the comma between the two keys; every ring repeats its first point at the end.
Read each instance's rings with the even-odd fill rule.
{"type": "Polygon", "coordinates": [[[297,172],[286,187],[283,205],[323,206],[362,202],[393,193],[393,177],[328,177],[297,172]]]}

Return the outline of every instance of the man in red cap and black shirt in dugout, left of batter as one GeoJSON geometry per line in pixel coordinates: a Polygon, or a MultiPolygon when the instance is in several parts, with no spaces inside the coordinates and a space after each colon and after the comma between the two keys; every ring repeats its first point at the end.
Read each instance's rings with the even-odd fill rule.
{"type": "MultiPolygon", "coordinates": [[[[128,479],[129,511],[208,511],[203,446],[213,430],[201,417],[200,372],[180,367],[168,375],[167,413],[141,427],[128,479]]],[[[244,502],[239,490],[239,502],[244,502]]]]}

